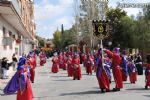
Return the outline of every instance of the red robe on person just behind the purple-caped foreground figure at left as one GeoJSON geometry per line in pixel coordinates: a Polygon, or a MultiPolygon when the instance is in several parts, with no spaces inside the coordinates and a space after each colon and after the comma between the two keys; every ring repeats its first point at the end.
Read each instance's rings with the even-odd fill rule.
{"type": "Polygon", "coordinates": [[[31,69],[30,69],[30,80],[32,82],[34,82],[34,78],[35,78],[35,67],[36,67],[36,59],[35,58],[30,58],[30,64],[31,64],[31,69]]]}

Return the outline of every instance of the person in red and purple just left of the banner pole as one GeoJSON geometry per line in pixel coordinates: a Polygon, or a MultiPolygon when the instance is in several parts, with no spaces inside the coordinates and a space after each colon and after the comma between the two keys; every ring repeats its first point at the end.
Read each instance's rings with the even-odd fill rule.
{"type": "Polygon", "coordinates": [[[108,71],[105,69],[106,66],[103,66],[102,64],[102,49],[100,48],[98,50],[98,54],[96,57],[96,77],[99,83],[99,88],[101,89],[101,92],[109,92],[110,91],[110,82],[108,77],[108,71]]]}

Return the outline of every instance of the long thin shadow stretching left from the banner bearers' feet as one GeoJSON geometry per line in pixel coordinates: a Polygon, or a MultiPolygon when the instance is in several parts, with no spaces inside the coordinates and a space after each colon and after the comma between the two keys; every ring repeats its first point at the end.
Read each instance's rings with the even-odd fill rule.
{"type": "Polygon", "coordinates": [[[73,92],[73,93],[62,93],[60,96],[67,96],[67,95],[86,95],[86,94],[101,94],[100,91],[84,91],[84,92],[73,92]]]}

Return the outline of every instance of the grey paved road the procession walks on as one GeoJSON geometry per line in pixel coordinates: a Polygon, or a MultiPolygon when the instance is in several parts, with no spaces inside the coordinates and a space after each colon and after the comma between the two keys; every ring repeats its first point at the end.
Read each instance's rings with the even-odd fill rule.
{"type": "MultiPolygon", "coordinates": [[[[37,67],[36,80],[32,84],[34,100],[150,100],[150,90],[144,89],[144,76],[138,76],[136,84],[124,83],[120,92],[102,94],[98,88],[95,75],[87,76],[84,69],[81,80],[67,77],[66,71],[57,74],[50,73],[50,60],[44,67],[37,67]]],[[[0,85],[0,89],[6,83],[0,85]]],[[[114,82],[111,88],[114,87],[114,82]]],[[[15,100],[16,95],[2,95],[0,100],[15,100]]]]}

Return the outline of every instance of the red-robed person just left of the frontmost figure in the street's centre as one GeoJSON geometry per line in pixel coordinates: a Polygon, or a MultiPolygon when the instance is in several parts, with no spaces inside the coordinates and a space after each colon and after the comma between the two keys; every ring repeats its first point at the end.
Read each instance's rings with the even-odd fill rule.
{"type": "Polygon", "coordinates": [[[73,76],[73,66],[72,66],[72,57],[71,57],[71,55],[68,56],[68,60],[67,60],[67,72],[68,72],[68,77],[73,76]]]}

